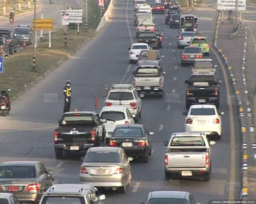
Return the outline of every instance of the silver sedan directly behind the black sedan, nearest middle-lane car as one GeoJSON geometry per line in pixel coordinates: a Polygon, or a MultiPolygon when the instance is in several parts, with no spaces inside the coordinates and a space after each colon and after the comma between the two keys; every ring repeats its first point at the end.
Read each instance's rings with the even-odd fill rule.
{"type": "Polygon", "coordinates": [[[129,163],[132,160],[119,147],[91,147],[81,165],[80,181],[125,193],[132,178],[129,163]]]}

